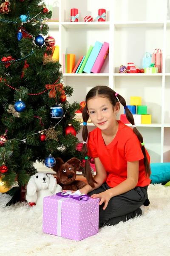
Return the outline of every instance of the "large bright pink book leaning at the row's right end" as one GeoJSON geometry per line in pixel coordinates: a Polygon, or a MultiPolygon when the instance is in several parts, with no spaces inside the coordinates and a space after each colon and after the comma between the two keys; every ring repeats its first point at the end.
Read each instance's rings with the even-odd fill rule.
{"type": "Polygon", "coordinates": [[[92,73],[100,73],[100,70],[102,69],[102,66],[108,56],[109,53],[109,44],[107,42],[104,42],[99,55],[96,58],[96,61],[94,62],[94,65],[91,69],[92,73]]]}

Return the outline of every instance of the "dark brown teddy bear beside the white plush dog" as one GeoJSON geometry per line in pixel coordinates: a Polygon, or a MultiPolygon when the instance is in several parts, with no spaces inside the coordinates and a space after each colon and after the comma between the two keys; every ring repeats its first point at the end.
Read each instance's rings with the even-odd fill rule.
{"type": "Polygon", "coordinates": [[[80,166],[81,161],[76,157],[65,163],[60,157],[56,158],[56,165],[52,169],[57,173],[57,184],[62,186],[63,190],[78,190],[86,185],[84,181],[75,180],[80,166]]]}

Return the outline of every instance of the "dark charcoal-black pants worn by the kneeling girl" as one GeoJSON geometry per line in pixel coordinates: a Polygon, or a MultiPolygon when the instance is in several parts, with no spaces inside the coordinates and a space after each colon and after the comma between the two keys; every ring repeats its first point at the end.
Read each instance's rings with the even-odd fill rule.
{"type": "MultiPolygon", "coordinates": [[[[99,194],[111,189],[107,183],[102,184],[98,189],[94,189],[88,195],[99,194]]],[[[147,186],[139,187],[110,199],[108,206],[103,210],[104,203],[99,206],[99,227],[116,225],[120,221],[128,221],[136,215],[140,216],[142,204],[148,206],[150,201],[147,198],[147,186]]]]}

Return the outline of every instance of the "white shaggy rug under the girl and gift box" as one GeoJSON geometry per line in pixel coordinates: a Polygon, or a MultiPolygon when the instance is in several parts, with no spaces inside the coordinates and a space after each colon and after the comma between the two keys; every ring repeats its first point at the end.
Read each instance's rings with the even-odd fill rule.
{"type": "Polygon", "coordinates": [[[170,187],[148,188],[150,206],[144,215],[82,241],[42,233],[42,213],[26,203],[5,207],[10,196],[0,193],[2,256],[170,256],[170,187]]]}

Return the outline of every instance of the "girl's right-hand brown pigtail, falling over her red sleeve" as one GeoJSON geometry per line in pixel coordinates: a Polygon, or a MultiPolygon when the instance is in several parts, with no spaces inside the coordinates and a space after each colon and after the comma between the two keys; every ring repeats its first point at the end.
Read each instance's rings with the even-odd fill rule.
{"type": "Polygon", "coordinates": [[[146,155],[146,150],[145,150],[145,147],[144,147],[144,142],[143,142],[142,134],[140,134],[140,132],[138,131],[138,129],[135,126],[135,121],[134,121],[133,115],[130,112],[130,110],[128,109],[128,107],[126,105],[125,99],[121,95],[119,95],[118,93],[116,93],[116,98],[118,98],[119,102],[123,105],[123,107],[125,109],[125,113],[126,113],[126,118],[132,124],[133,131],[136,134],[136,136],[138,137],[138,140],[142,144],[142,153],[144,155],[145,175],[146,175],[146,177],[147,176],[150,177],[150,174],[151,174],[150,164],[149,164],[148,159],[147,159],[147,155],[146,155]]]}

